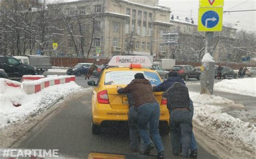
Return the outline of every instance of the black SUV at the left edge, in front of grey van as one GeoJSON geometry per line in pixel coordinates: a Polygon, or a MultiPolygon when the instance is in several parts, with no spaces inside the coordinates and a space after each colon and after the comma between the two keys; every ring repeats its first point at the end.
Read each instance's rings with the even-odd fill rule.
{"type": "Polygon", "coordinates": [[[0,69],[3,69],[9,78],[21,78],[23,75],[36,75],[36,68],[30,64],[23,64],[11,56],[0,56],[0,69]]]}

